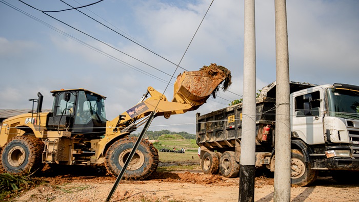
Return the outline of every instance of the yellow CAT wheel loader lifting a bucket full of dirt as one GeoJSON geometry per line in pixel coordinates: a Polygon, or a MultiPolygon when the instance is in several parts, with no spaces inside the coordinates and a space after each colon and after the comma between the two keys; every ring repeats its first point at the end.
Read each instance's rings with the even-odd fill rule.
{"type": "MultiPolygon", "coordinates": [[[[104,164],[117,176],[136,137],[129,134],[142,126],[149,115],[170,118],[195,110],[230,78],[230,71],[211,64],[200,71],[179,74],[172,101],[148,87],[142,99],[113,120],[106,119],[105,96],[84,88],[51,91],[50,112],[42,111],[43,95],[32,101],[32,110],[3,120],[0,128],[0,172],[27,174],[45,164],[104,164]],[[208,70],[211,70],[210,72],[208,70]],[[149,97],[150,96],[150,97],[149,97]]],[[[158,152],[142,140],[128,165],[124,178],[145,179],[158,165],[158,152]]]]}

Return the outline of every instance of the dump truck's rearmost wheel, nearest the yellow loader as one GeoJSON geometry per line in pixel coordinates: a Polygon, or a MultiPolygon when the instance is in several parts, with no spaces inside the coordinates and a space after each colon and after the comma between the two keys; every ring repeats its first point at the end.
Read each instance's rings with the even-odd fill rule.
{"type": "Polygon", "coordinates": [[[220,171],[220,156],[215,152],[207,151],[203,154],[201,167],[205,174],[217,174],[220,171]]]}

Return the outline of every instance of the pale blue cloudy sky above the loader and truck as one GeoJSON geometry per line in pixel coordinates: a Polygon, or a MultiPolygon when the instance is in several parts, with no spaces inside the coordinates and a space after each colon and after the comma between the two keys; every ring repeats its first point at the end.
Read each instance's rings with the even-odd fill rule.
{"type": "MultiPolygon", "coordinates": [[[[46,11],[70,8],[61,1],[24,2],[46,11]]],[[[89,4],[83,0],[65,2],[74,7],[89,4]]],[[[177,64],[210,3],[105,0],[81,11],[177,64]]],[[[188,71],[210,63],[225,66],[233,76],[230,91],[238,95],[243,91],[243,7],[244,1],[214,1],[180,64],[188,71]]],[[[359,85],[358,9],[359,1],[287,1],[290,80],[359,85]]],[[[255,11],[256,88],[261,89],[275,80],[274,1],[257,0],[255,11]]],[[[36,98],[37,92],[44,95],[43,108],[51,108],[51,90],[83,87],[107,97],[107,118],[112,120],[135,105],[148,86],[164,91],[169,75],[175,71],[174,64],[76,10],[48,14],[137,60],[19,1],[0,0],[0,108],[31,108],[28,99],[36,98]]],[[[175,76],[183,71],[178,69],[175,76]]],[[[169,100],[173,97],[172,88],[170,85],[165,93],[169,100]]],[[[220,93],[221,98],[209,99],[196,111],[184,115],[157,117],[150,130],[195,133],[195,113],[226,107],[229,101],[241,98],[235,94],[220,93]]]]}

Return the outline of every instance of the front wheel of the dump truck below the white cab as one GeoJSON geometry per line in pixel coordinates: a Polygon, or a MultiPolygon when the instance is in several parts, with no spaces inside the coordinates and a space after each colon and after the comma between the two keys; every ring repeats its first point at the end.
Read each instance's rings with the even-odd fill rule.
{"type": "Polygon", "coordinates": [[[318,176],[318,171],[312,170],[310,165],[304,161],[302,153],[291,153],[290,168],[291,184],[293,185],[307,186],[314,182],[318,176]]]}

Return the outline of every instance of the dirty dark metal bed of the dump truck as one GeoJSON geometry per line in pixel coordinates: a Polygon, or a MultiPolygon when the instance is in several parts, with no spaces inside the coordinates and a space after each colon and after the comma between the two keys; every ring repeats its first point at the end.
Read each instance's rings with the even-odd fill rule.
{"type": "MultiPolygon", "coordinates": [[[[313,87],[315,84],[290,82],[290,92],[313,87]]],[[[196,114],[196,142],[210,151],[228,150],[241,141],[243,103],[211,113],[196,114]]],[[[275,125],[275,82],[262,88],[256,99],[256,144],[271,147],[271,140],[262,141],[258,132],[266,125],[275,125]]],[[[273,129],[273,127],[272,127],[273,129]]],[[[260,149],[261,147],[256,147],[260,149]]]]}

